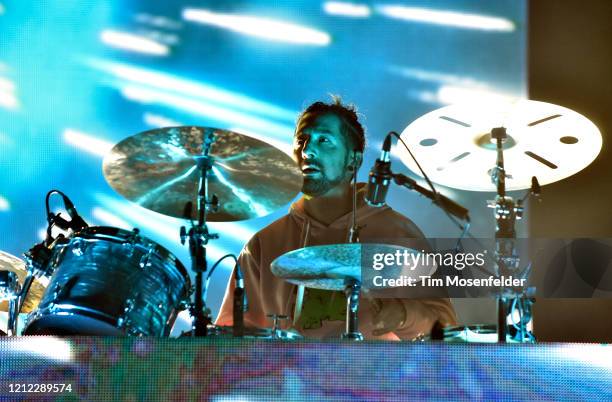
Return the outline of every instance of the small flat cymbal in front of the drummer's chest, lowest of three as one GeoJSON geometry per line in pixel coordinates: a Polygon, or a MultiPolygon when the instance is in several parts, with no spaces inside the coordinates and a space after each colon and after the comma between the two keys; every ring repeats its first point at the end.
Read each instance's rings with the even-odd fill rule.
{"type": "Polygon", "coordinates": [[[380,286],[374,286],[372,281],[366,278],[371,279],[372,276],[378,274],[386,278],[397,278],[400,275],[418,278],[429,276],[436,269],[434,263],[406,266],[406,269],[397,266],[386,266],[380,270],[373,268],[374,255],[396,255],[397,253],[403,255],[419,252],[392,244],[330,244],[290,251],[272,261],[270,267],[274,275],[287,282],[326,290],[344,290],[347,279],[360,281],[364,289],[380,288],[380,286]],[[367,274],[366,278],[362,272],[367,274]]]}

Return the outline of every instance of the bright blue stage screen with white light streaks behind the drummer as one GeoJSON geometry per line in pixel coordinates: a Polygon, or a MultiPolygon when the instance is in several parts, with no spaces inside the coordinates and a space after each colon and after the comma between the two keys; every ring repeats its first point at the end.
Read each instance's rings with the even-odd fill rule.
{"type": "MultiPolygon", "coordinates": [[[[388,131],[447,104],[524,95],[525,24],[516,0],[0,0],[0,249],[19,255],[41,240],[44,196],[58,188],[91,225],[138,227],[188,266],[182,222],[106,184],[113,144],[200,125],[286,148],[298,112],[333,93],[367,127],[364,180],[388,131]]],[[[471,209],[475,235],[493,233],[490,195],[441,191],[471,209]]],[[[428,236],[459,235],[419,195],[392,189],[389,203],[428,236]]],[[[221,238],[209,257],[238,253],[286,209],[210,225],[221,238]]],[[[212,279],[213,313],[230,268],[212,279]]]]}

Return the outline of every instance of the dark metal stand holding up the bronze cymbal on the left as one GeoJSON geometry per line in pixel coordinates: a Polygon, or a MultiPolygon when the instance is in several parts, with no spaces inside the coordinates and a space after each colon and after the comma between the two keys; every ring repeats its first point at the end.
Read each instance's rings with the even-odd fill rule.
{"type": "MultiPolygon", "coordinates": [[[[191,228],[186,230],[185,226],[181,227],[181,244],[185,244],[189,239],[189,255],[191,257],[191,270],[195,273],[195,294],[194,303],[191,307],[191,316],[193,317],[193,329],[195,336],[206,336],[208,334],[207,325],[212,323],[210,310],[206,307],[203,299],[203,275],[207,270],[206,263],[206,245],[209,240],[218,239],[219,235],[210,233],[206,225],[206,215],[208,211],[215,211],[218,208],[219,200],[216,195],[212,195],[208,199],[208,177],[212,170],[213,160],[208,156],[210,145],[214,141],[214,133],[203,132],[204,143],[202,144],[202,155],[196,157],[197,168],[200,173],[198,182],[198,197],[197,197],[197,214],[198,222],[193,224],[191,228]]],[[[185,218],[191,220],[191,202],[185,206],[185,218]]]]}

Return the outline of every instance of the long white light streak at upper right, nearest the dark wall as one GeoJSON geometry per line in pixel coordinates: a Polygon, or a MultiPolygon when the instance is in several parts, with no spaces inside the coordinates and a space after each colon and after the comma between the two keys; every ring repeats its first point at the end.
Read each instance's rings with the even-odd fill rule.
{"type": "Polygon", "coordinates": [[[380,6],[377,10],[391,18],[405,21],[445,25],[455,28],[512,32],[514,23],[506,18],[405,6],[380,6]]]}

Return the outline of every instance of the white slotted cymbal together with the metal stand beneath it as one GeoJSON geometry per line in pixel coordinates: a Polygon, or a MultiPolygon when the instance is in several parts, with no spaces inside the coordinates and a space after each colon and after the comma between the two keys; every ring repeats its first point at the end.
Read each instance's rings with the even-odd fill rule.
{"type": "MultiPolygon", "coordinates": [[[[431,181],[497,193],[495,200],[488,203],[494,208],[496,220],[496,276],[519,271],[514,225],[522,217],[526,199],[539,196],[540,183],[553,183],[584,169],[602,146],[597,127],[579,113],[550,103],[519,99],[434,110],[406,127],[401,139],[410,148],[418,149],[431,181]],[[491,169],[488,161],[493,160],[492,151],[496,162],[491,169]],[[506,164],[513,166],[512,175],[505,170],[506,164]],[[516,202],[506,195],[506,191],[522,189],[530,192],[516,202]]],[[[408,146],[399,152],[404,164],[429,182],[408,146]]],[[[525,275],[530,270],[529,264],[525,275]]],[[[533,289],[505,289],[497,295],[499,342],[506,341],[509,330],[521,342],[533,340],[526,327],[532,292],[533,289]],[[512,310],[520,316],[518,323],[512,314],[508,317],[512,310]]]]}

